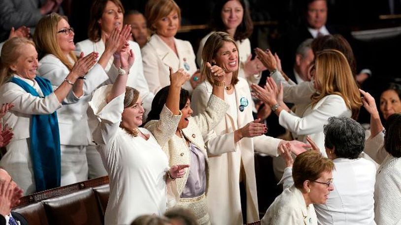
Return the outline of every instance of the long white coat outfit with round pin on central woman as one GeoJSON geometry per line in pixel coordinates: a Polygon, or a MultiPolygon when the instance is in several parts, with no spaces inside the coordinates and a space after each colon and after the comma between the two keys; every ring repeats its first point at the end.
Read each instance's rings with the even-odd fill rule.
{"type": "MultiPolygon", "coordinates": [[[[207,81],[199,84],[194,90],[191,106],[195,115],[205,110],[211,92],[212,85],[207,81]]],[[[248,83],[239,78],[239,82],[234,85],[234,92],[236,105],[230,105],[230,107],[235,108],[236,115],[230,114],[231,110],[229,110],[213,132],[204,137],[209,154],[210,168],[207,206],[211,224],[216,225],[242,225],[239,193],[240,173],[242,172],[244,176],[241,176],[241,179],[246,189],[247,221],[259,220],[254,150],[277,156],[277,147],[281,141],[263,135],[233,142],[233,138],[230,137],[234,136],[234,131],[254,120],[248,83]],[[241,105],[243,107],[240,107],[241,105]],[[233,119],[234,117],[236,120],[233,119]],[[213,138],[211,139],[211,137],[213,138]],[[234,152],[222,154],[209,151],[209,149],[231,149],[233,144],[234,152]]]]}

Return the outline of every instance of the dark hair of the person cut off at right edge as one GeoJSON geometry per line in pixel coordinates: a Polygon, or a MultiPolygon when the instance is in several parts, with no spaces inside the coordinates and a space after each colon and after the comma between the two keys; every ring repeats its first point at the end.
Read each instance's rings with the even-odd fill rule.
{"type": "Polygon", "coordinates": [[[387,118],[384,148],[390,155],[401,157],[401,114],[394,113],[387,118]]]}

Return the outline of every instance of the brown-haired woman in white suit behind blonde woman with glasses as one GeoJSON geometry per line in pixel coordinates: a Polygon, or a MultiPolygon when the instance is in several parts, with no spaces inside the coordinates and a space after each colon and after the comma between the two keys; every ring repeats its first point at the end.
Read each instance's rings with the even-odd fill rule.
{"type": "MultiPolygon", "coordinates": [[[[88,54],[90,52],[97,52],[99,54],[105,53],[105,43],[112,35],[115,28],[123,29],[123,14],[124,7],[120,0],[95,0],[91,7],[91,17],[88,28],[89,39],[78,42],[76,44],[76,51],[88,54]]],[[[127,86],[134,87],[141,95],[143,101],[143,108],[146,114],[150,111],[154,94],[149,91],[148,83],[143,76],[142,56],[140,48],[134,41],[128,41],[130,48],[134,52],[135,62],[130,69],[130,76],[128,77],[127,86]]],[[[121,47],[121,46],[120,46],[121,47]]],[[[109,75],[110,80],[106,84],[112,84],[118,75],[118,68],[114,65],[114,58],[118,59],[118,54],[110,54],[109,61],[105,67],[106,73],[109,75]]],[[[117,60],[118,61],[118,60],[117,60]]],[[[93,114],[93,113],[90,113],[93,114]]],[[[91,129],[98,125],[97,120],[90,116],[89,126],[91,129]]],[[[87,157],[89,165],[89,177],[94,178],[104,175],[99,153],[95,149],[95,145],[90,145],[87,148],[87,157]]]]}

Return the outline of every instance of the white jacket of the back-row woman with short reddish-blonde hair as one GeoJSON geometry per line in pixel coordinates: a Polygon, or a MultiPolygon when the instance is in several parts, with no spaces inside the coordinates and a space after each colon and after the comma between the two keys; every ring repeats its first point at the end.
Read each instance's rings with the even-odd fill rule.
{"type": "MultiPolygon", "coordinates": [[[[142,48],[143,73],[150,91],[155,94],[163,87],[170,85],[168,67],[171,67],[174,72],[182,68],[191,76],[197,71],[195,53],[191,43],[175,38],[174,42],[178,56],[157,34],[153,34],[149,42],[142,48]]],[[[192,92],[189,81],[182,87],[192,92]]]]}

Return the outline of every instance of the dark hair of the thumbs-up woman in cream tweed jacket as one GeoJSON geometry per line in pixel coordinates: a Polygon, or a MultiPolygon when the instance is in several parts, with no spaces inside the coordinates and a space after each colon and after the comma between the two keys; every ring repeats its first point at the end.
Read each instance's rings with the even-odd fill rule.
{"type": "MultiPolygon", "coordinates": [[[[160,119],[160,113],[162,112],[163,106],[167,102],[167,95],[168,95],[169,89],[170,89],[170,85],[163,87],[156,93],[155,98],[152,101],[152,109],[150,110],[145,123],[149,122],[150,120],[159,120],[160,119]]],[[[187,90],[181,88],[180,110],[184,109],[185,104],[187,103],[188,99],[191,99],[189,92],[187,90]]]]}

